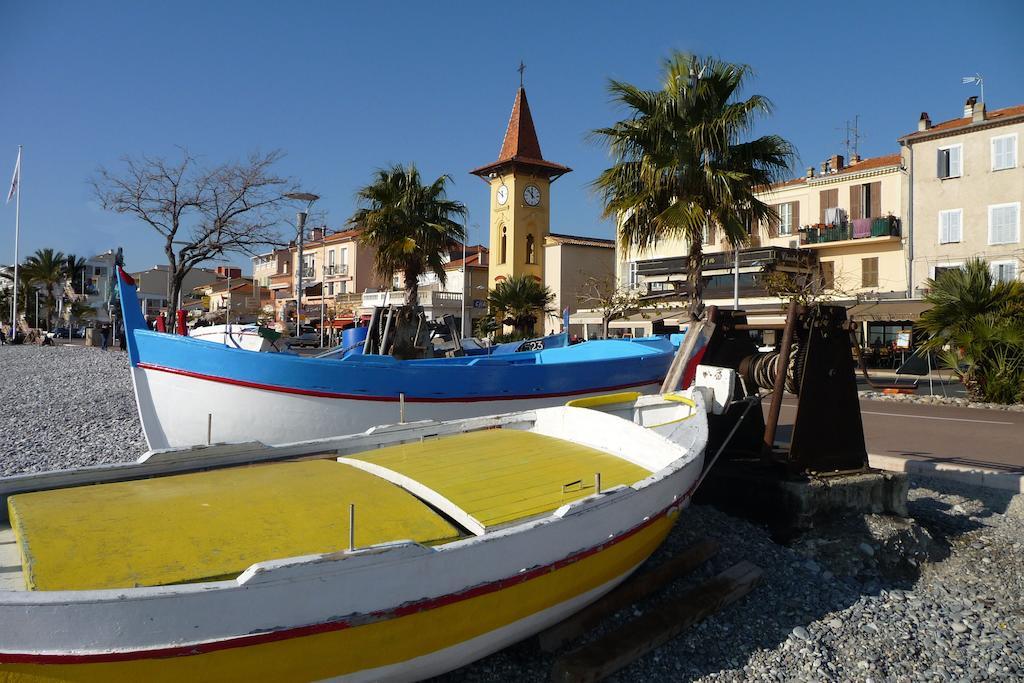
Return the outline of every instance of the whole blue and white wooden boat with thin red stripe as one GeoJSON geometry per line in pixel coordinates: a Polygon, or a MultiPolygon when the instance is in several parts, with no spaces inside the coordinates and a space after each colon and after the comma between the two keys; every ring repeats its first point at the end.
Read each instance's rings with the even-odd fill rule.
{"type": "Polygon", "coordinates": [[[656,392],[667,339],[591,341],[538,351],[396,360],[257,353],[146,329],[121,271],[125,337],[151,450],[212,442],[280,444],[415,420],[561,405],[613,391],[656,392]]]}

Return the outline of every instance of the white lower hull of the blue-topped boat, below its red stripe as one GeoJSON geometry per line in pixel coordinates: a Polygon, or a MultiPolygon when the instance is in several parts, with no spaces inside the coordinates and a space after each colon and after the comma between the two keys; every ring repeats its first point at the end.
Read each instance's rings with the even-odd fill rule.
{"type": "MultiPolygon", "coordinates": [[[[354,434],[381,424],[453,420],[561,405],[604,393],[527,395],[504,400],[347,398],[257,388],[171,369],[132,368],[139,418],[153,451],[198,443],[267,444],[354,434]],[[403,415],[402,415],[403,414],[403,415]]],[[[630,387],[657,391],[655,383],[630,387]]]]}

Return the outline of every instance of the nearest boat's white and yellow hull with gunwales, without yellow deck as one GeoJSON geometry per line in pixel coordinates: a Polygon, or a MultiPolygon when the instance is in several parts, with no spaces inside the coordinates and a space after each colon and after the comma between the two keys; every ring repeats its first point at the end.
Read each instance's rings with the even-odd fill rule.
{"type": "MultiPolygon", "coordinates": [[[[371,454],[387,444],[494,429],[561,435],[650,472],[439,545],[395,541],[344,550],[339,539],[336,551],[267,559],[231,580],[0,592],[0,680],[418,680],[461,667],[578,611],[650,556],[701,471],[707,420],[697,394],[692,408],[671,439],[563,407],[288,446],[172,451],[133,465],[0,481],[2,497],[196,471],[207,462],[234,467],[310,457],[338,457],[370,471],[384,466],[371,454]]],[[[400,485],[401,472],[392,475],[387,480],[400,485]]],[[[414,484],[403,487],[412,493],[414,484]]],[[[431,498],[423,486],[424,500],[452,519],[470,514],[457,503],[462,494],[431,498]]],[[[476,500],[472,490],[466,496],[476,500]]]]}

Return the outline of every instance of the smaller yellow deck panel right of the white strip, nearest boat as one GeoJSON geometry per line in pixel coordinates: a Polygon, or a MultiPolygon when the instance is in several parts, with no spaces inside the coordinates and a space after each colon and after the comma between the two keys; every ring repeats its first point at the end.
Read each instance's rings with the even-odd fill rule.
{"type": "Polygon", "coordinates": [[[601,486],[650,472],[622,458],[552,436],[488,429],[348,456],[398,472],[465,510],[484,527],[557,510],[601,486]],[[574,485],[572,482],[577,482],[574,485]]]}

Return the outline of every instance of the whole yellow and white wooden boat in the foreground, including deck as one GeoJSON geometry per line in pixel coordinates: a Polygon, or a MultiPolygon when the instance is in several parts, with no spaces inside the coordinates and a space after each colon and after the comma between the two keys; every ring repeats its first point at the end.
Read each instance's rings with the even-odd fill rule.
{"type": "Polygon", "coordinates": [[[703,462],[703,398],[683,397],[671,437],[563,407],[2,479],[0,679],[463,666],[657,548],[703,462]]]}

